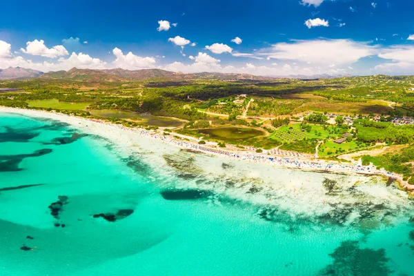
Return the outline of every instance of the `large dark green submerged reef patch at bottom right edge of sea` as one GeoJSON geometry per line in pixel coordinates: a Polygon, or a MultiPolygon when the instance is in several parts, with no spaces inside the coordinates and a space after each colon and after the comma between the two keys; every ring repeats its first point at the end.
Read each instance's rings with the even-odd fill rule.
{"type": "Polygon", "coordinates": [[[326,266],[319,275],[355,275],[355,276],[386,276],[392,271],[388,268],[388,258],[385,250],[373,250],[359,248],[359,242],[346,241],[330,254],[333,263],[326,266]]]}

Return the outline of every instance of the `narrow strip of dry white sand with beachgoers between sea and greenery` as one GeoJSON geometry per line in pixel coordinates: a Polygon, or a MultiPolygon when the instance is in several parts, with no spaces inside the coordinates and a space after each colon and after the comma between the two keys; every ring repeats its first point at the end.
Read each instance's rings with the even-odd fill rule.
{"type": "MultiPolygon", "coordinates": [[[[164,144],[170,144],[186,150],[193,150],[194,152],[204,153],[207,155],[213,155],[217,157],[225,157],[235,161],[255,162],[258,164],[269,164],[281,168],[299,169],[312,172],[331,172],[335,174],[357,174],[357,175],[382,175],[384,177],[392,177],[397,179],[400,188],[406,190],[411,195],[414,194],[414,185],[408,184],[407,181],[402,180],[402,175],[396,175],[392,172],[386,172],[386,170],[377,170],[375,166],[362,166],[357,164],[341,164],[335,161],[326,161],[319,159],[311,159],[303,157],[299,154],[295,155],[293,152],[292,157],[278,156],[276,154],[259,154],[252,150],[246,150],[244,152],[235,152],[231,150],[213,148],[208,145],[201,146],[195,141],[183,141],[176,139],[172,135],[164,135],[157,130],[145,130],[141,128],[126,128],[121,125],[108,123],[97,119],[86,119],[83,117],[75,117],[69,115],[63,115],[56,112],[46,112],[43,110],[29,110],[23,108],[7,108],[0,107],[0,112],[17,113],[19,115],[26,115],[29,117],[42,117],[47,119],[56,119],[64,121],[72,126],[81,128],[85,132],[90,134],[99,135],[105,137],[115,144],[121,144],[128,147],[130,142],[126,142],[122,139],[122,133],[128,133],[128,135],[136,135],[139,137],[147,137],[157,141],[161,141],[164,144]]],[[[180,135],[182,137],[182,135],[180,135]]],[[[135,138],[136,139],[136,138],[135,138]]]]}

